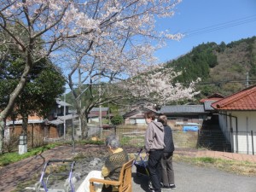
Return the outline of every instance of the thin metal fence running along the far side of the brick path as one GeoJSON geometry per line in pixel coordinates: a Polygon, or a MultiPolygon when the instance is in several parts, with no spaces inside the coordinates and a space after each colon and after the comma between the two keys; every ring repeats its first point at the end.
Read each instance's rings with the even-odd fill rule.
{"type": "MultiPolygon", "coordinates": [[[[140,125],[122,125],[111,129],[102,129],[98,126],[89,127],[89,137],[97,137],[104,140],[110,134],[119,136],[122,145],[131,145],[134,147],[143,147],[144,137],[147,126],[140,125]]],[[[36,148],[47,143],[64,143],[68,141],[77,142],[80,137],[77,133],[77,127],[68,127],[66,137],[63,131],[55,131],[55,135],[47,137],[44,131],[28,132],[27,148],[36,148]],[[72,131],[72,129],[74,131],[72,131]],[[72,137],[73,133],[73,137],[72,137]]],[[[10,130],[11,132],[12,130],[10,130]]],[[[14,131],[15,132],[15,131],[14,131]]],[[[256,132],[229,132],[223,133],[218,130],[200,130],[200,131],[182,131],[173,127],[172,137],[175,148],[207,148],[209,150],[227,151],[241,154],[255,154],[256,150],[256,132]],[[224,136],[230,136],[230,139],[224,136]]],[[[4,152],[17,151],[19,144],[19,135],[12,135],[4,139],[4,152]]]]}

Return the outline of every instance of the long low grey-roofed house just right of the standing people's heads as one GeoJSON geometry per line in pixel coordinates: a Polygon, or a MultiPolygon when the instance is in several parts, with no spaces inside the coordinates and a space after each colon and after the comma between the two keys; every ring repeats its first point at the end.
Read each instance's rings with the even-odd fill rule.
{"type": "Polygon", "coordinates": [[[204,105],[172,105],[163,106],[159,113],[163,113],[175,125],[183,125],[189,123],[200,124],[207,119],[204,105]]]}

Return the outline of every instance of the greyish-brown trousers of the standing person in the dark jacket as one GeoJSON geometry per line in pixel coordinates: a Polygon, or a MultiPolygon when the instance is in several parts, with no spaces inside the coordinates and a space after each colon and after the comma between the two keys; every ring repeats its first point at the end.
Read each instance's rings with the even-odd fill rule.
{"type": "Polygon", "coordinates": [[[161,160],[162,165],[162,180],[163,184],[168,186],[174,184],[174,172],[172,167],[172,155],[173,153],[164,153],[161,160]]]}

